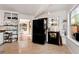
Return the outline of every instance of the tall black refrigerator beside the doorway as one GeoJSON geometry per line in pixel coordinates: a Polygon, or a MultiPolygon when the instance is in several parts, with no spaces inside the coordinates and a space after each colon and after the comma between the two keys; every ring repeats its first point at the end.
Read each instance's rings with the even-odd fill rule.
{"type": "Polygon", "coordinates": [[[37,44],[45,44],[46,42],[46,29],[47,18],[40,18],[33,20],[32,26],[32,42],[37,44]]]}

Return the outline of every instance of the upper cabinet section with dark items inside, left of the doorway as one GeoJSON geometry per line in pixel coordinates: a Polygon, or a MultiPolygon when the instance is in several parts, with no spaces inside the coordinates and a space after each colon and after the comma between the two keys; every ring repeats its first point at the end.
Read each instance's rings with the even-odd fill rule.
{"type": "Polygon", "coordinates": [[[4,25],[18,25],[18,14],[5,12],[4,25]]]}

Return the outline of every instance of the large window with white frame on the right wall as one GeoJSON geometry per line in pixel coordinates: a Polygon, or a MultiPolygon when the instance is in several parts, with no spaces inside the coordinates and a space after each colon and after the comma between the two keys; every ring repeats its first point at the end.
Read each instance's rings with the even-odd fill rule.
{"type": "Polygon", "coordinates": [[[79,5],[77,5],[70,14],[70,36],[79,41],[79,5]]]}

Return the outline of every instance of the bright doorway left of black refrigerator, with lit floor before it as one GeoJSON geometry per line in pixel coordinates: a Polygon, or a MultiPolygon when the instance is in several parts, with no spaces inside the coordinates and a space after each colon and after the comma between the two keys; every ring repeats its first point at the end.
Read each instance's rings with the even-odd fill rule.
{"type": "Polygon", "coordinates": [[[28,40],[31,38],[31,20],[20,19],[19,21],[19,47],[27,47],[28,40]]]}

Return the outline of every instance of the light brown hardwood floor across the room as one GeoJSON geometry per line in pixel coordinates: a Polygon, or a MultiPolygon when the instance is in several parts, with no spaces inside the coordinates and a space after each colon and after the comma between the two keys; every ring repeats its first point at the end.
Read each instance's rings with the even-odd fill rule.
{"type": "Polygon", "coordinates": [[[69,49],[63,46],[52,44],[39,45],[31,42],[31,39],[18,43],[6,43],[0,46],[1,54],[70,54],[69,49]],[[25,42],[25,43],[24,43],[25,42]]]}

